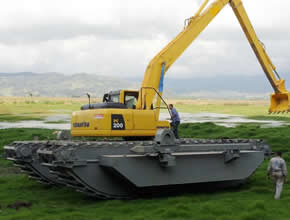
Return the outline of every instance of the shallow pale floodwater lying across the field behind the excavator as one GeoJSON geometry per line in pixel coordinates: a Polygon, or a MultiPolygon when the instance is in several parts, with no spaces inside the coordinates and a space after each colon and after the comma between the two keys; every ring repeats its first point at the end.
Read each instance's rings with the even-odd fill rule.
{"type": "MultiPolygon", "coordinates": [[[[20,121],[20,122],[0,122],[0,129],[6,128],[46,128],[46,129],[70,129],[70,115],[52,115],[44,121],[20,121]],[[57,123],[56,123],[57,122],[57,123]]],[[[225,127],[236,127],[243,123],[257,123],[261,127],[280,127],[289,125],[287,122],[274,120],[252,120],[238,115],[227,115],[217,113],[180,113],[181,123],[205,123],[212,122],[225,127]]],[[[161,113],[160,120],[167,120],[168,113],[161,113]]]]}

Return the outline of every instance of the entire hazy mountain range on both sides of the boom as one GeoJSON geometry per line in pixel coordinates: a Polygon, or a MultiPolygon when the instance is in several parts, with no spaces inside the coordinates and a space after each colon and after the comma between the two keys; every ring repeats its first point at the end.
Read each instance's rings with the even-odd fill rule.
{"type": "MultiPolygon", "coordinates": [[[[290,89],[290,74],[283,74],[290,89]]],[[[87,92],[102,97],[105,92],[139,89],[140,78],[121,78],[86,73],[0,73],[0,96],[84,96],[87,92]]],[[[267,98],[273,92],[264,75],[223,75],[186,79],[165,77],[165,98],[267,98]]]]}

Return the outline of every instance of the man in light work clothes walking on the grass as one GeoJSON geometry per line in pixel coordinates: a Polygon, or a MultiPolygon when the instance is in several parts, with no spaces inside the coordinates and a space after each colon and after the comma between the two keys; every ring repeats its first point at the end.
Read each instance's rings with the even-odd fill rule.
{"type": "Polygon", "coordinates": [[[282,152],[277,152],[277,155],[273,157],[268,165],[267,178],[272,179],[275,185],[275,199],[280,199],[280,195],[283,189],[284,181],[287,182],[287,167],[285,160],[282,158],[282,152]]]}

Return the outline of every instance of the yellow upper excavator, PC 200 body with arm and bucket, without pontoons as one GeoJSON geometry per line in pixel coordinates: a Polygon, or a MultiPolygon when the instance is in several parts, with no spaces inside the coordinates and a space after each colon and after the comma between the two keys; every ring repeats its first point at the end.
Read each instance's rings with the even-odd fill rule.
{"type": "Polygon", "coordinates": [[[280,79],[257,38],[241,0],[215,0],[209,6],[207,4],[208,0],[204,1],[196,14],[187,20],[181,33],[151,60],[139,91],[110,92],[104,95],[103,103],[89,103],[82,106],[81,111],[73,112],[72,136],[151,138],[155,136],[157,129],[169,128],[168,121],[159,120],[166,71],[227,4],[232,7],[275,91],[271,95],[269,112],[289,111],[289,92],[285,89],[285,81],[280,79]]]}

